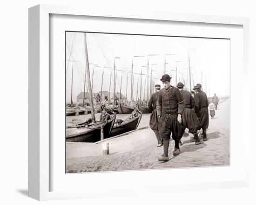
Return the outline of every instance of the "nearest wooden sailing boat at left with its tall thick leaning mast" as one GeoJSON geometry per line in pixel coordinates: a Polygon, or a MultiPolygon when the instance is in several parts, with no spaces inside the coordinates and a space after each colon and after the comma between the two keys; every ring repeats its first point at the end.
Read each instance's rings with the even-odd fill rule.
{"type": "Polygon", "coordinates": [[[92,118],[88,122],[81,123],[76,126],[71,126],[66,128],[66,141],[72,142],[95,142],[100,141],[109,137],[109,134],[114,126],[115,116],[113,115],[107,121],[96,122],[94,115],[94,104],[93,104],[93,94],[90,81],[90,70],[88,61],[88,51],[87,51],[87,40],[86,33],[84,34],[85,43],[85,58],[86,58],[86,72],[87,72],[87,83],[89,89],[89,100],[91,106],[92,118]],[[103,135],[101,131],[103,130],[103,135]]]}

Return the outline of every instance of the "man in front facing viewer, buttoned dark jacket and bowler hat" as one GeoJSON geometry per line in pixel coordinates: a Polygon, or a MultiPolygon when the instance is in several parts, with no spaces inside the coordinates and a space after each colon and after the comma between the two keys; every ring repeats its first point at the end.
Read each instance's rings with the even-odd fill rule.
{"type": "Polygon", "coordinates": [[[173,155],[180,153],[179,141],[182,138],[184,127],[182,125],[182,113],[185,103],[180,91],[170,85],[171,77],[168,74],[162,76],[164,88],[160,90],[156,102],[159,133],[163,139],[163,154],[158,157],[160,161],[168,161],[168,147],[170,135],[175,141],[173,155]]]}

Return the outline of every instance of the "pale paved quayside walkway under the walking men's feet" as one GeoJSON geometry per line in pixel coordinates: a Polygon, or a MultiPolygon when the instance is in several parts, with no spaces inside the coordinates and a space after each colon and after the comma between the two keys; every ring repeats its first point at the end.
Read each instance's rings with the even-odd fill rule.
{"type": "Polygon", "coordinates": [[[181,153],[175,157],[171,141],[167,162],[157,160],[163,147],[156,147],[150,128],[108,140],[110,154],[106,156],[102,156],[101,143],[67,143],[67,173],[229,165],[229,100],[219,104],[207,133],[209,140],[201,145],[183,137],[181,153]]]}

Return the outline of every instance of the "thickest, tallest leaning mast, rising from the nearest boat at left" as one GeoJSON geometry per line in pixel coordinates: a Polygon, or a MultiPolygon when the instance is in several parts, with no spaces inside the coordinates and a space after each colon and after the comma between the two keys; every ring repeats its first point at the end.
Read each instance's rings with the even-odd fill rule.
{"type": "Polygon", "coordinates": [[[85,47],[85,60],[86,66],[85,69],[87,71],[87,83],[89,89],[89,99],[90,99],[90,106],[91,106],[91,115],[92,115],[92,122],[95,123],[95,115],[94,115],[94,104],[93,104],[93,92],[91,87],[91,80],[90,80],[90,69],[89,69],[89,59],[88,59],[88,51],[87,51],[87,40],[86,40],[86,33],[84,33],[84,47],[85,47]]]}

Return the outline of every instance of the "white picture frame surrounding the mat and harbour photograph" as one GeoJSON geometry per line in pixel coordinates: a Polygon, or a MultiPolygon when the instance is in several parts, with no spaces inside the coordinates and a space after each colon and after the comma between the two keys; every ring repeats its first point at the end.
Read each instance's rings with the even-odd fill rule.
{"type": "MultiPolygon", "coordinates": [[[[164,20],[188,23],[206,23],[243,26],[243,82],[249,75],[249,19],[241,17],[223,17],[210,15],[175,14],[160,12],[133,12],[124,10],[99,11],[94,8],[79,8],[71,6],[38,5],[29,8],[29,197],[37,200],[73,199],[96,197],[97,192],[80,191],[50,191],[51,182],[51,160],[50,160],[50,126],[51,118],[49,106],[50,73],[49,73],[49,15],[67,14],[76,16],[97,16],[128,19],[164,20]]],[[[232,89],[232,88],[231,88],[232,89]]],[[[249,102],[249,89],[243,87],[243,110],[245,103],[249,102]]],[[[245,119],[249,119],[249,113],[243,112],[243,128],[245,119]]],[[[231,128],[232,129],[232,128],[231,128]]],[[[249,130],[243,129],[243,143],[249,141],[249,130]]],[[[237,179],[219,181],[215,183],[193,183],[187,184],[181,181],[175,188],[166,185],[145,185],[139,187],[119,189],[118,186],[111,187],[112,193],[102,192],[101,196],[114,196],[133,193],[153,193],[155,188],[159,192],[205,190],[232,187],[249,186],[249,150],[244,153],[244,173],[237,179]]],[[[199,168],[200,169],[200,168],[199,168]]],[[[125,172],[123,172],[125,173],[125,172]]],[[[136,172],[133,172],[136,174],[136,172]]],[[[111,173],[112,175],[115,173],[111,173]]]]}

